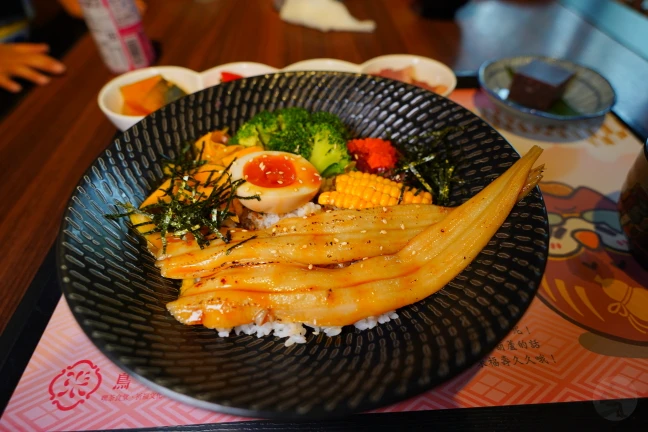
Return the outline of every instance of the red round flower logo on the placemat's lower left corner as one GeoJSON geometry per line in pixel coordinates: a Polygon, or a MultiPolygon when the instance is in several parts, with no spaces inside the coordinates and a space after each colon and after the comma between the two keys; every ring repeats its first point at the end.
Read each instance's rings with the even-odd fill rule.
{"type": "Polygon", "coordinates": [[[99,367],[90,360],[79,360],[63,369],[50,382],[50,400],[61,411],[68,411],[90,399],[99,385],[99,367]]]}

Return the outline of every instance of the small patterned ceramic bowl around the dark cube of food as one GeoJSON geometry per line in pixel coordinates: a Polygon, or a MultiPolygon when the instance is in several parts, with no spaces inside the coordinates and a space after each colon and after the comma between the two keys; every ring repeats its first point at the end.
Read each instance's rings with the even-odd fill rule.
{"type": "Polygon", "coordinates": [[[612,85],[598,72],[567,60],[522,56],[488,61],[479,68],[479,83],[489,99],[515,117],[536,123],[551,124],[597,118],[612,109],[616,94],[612,85]],[[508,98],[515,71],[540,60],[574,73],[561,100],[549,110],[525,107],[508,98]]]}

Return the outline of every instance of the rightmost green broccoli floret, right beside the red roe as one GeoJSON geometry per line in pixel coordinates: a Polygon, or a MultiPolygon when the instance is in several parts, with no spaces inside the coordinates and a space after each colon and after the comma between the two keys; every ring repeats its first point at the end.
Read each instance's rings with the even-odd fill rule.
{"type": "Polygon", "coordinates": [[[318,122],[309,125],[312,151],[309,162],[317,168],[322,177],[342,174],[351,163],[346,148],[346,129],[340,130],[331,122],[318,122]]]}

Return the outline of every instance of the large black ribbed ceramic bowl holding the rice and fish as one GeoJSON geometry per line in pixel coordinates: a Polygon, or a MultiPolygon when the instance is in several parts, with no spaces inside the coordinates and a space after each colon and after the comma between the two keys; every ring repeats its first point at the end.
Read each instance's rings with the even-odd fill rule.
{"type": "Polygon", "coordinates": [[[442,154],[466,181],[452,205],[476,194],[519,158],[489,125],[418,87],[358,74],[296,72],[233,81],[153,113],[120,135],[80,180],[58,240],[59,279],[79,324],[120,368],[171,398],[252,417],[331,417],[415,396],[473,366],[528,308],[547,259],[538,189],[520,202],[471,266],[440,292],[368,331],[220,338],[166,311],[176,281],[160,276],[116,200],[141,202],[162,178],[162,155],[261,110],[301,106],[339,115],[356,136],[402,141],[446,126],[442,154]]]}

